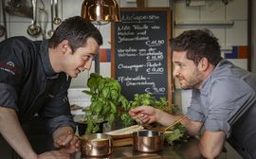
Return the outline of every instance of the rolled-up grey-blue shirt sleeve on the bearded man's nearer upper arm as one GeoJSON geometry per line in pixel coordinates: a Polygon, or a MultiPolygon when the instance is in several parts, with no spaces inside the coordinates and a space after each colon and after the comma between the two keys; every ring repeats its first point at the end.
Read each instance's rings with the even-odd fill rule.
{"type": "MultiPolygon", "coordinates": [[[[247,99],[250,88],[240,79],[215,80],[210,87],[210,98],[205,104],[209,105],[205,129],[210,132],[223,131],[229,137],[229,119],[242,109],[247,110],[247,99]]],[[[243,111],[242,111],[243,112],[243,111]]]]}

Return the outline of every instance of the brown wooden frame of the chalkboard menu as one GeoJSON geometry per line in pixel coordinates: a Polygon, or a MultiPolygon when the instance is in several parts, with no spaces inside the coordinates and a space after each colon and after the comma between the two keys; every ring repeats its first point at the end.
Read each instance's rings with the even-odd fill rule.
{"type": "MultiPolygon", "coordinates": [[[[154,13],[164,13],[166,15],[166,18],[161,18],[161,21],[164,21],[163,23],[166,24],[165,28],[160,28],[160,31],[164,31],[166,34],[166,48],[164,48],[166,52],[166,65],[164,65],[166,69],[166,96],[169,101],[169,107],[172,107],[172,88],[173,88],[173,78],[172,78],[172,55],[171,55],[171,48],[170,48],[170,39],[172,37],[172,17],[171,17],[171,10],[169,8],[120,8],[120,15],[122,15],[122,12],[124,13],[132,13],[134,15],[141,15],[143,13],[145,14],[152,14],[154,13]]],[[[143,17],[142,17],[143,18],[143,17]]],[[[122,23],[122,16],[121,16],[121,22],[122,23]]],[[[116,63],[117,59],[115,57],[116,55],[116,47],[119,46],[119,44],[116,43],[117,38],[116,37],[116,26],[118,26],[119,23],[111,23],[111,77],[114,79],[118,79],[117,77],[117,70],[116,70],[116,63]]],[[[149,28],[150,29],[150,28],[149,28]]],[[[149,37],[150,38],[150,37],[149,37]]],[[[128,60],[127,60],[128,61],[128,60]]],[[[157,75],[156,75],[157,76],[157,75]]],[[[123,89],[123,88],[122,88],[123,89]]],[[[125,95],[124,95],[125,96],[125,95]]]]}

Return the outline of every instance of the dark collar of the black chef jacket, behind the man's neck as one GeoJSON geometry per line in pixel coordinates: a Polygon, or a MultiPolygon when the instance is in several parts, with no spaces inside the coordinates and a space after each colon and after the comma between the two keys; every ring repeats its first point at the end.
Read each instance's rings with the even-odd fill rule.
{"type": "Polygon", "coordinates": [[[44,70],[46,72],[46,77],[47,79],[57,79],[59,74],[57,74],[56,72],[54,72],[50,60],[49,60],[49,52],[48,52],[48,42],[47,41],[43,41],[41,46],[40,46],[40,56],[41,56],[41,60],[42,60],[42,65],[44,67],[44,70]]]}

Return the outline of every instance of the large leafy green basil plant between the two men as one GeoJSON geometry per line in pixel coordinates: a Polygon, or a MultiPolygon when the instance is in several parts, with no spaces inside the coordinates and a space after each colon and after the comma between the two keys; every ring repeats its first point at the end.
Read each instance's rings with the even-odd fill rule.
{"type": "Polygon", "coordinates": [[[87,80],[89,91],[82,91],[91,96],[91,104],[86,110],[86,132],[98,132],[99,122],[107,121],[112,125],[119,115],[119,106],[124,111],[130,109],[130,103],[120,94],[121,87],[116,79],[103,78],[97,73],[91,73],[87,80]]]}

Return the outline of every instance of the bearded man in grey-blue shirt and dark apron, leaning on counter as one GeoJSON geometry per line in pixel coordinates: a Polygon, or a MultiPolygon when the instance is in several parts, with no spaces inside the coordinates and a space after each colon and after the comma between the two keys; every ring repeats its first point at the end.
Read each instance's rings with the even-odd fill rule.
{"type": "MultiPolygon", "coordinates": [[[[182,124],[190,135],[204,127],[199,149],[215,158],[225,140],[247,159],[256,158],[256,75],[221,58],[220,45],[210,30],[188,30],[171,40],[174,77],[182,89],[192,89],[187,119],[182,124]]],[[[143,122],[170,125],[180,115],[153,107],[130,111],[143,122]]]]}

